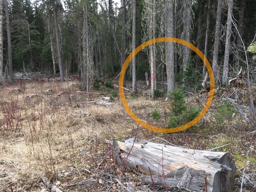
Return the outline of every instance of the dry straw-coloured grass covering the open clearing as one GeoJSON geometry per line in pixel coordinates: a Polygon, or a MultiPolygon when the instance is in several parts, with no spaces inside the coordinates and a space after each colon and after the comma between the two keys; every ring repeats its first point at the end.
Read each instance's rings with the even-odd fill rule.
{"type": "MultiPolygon", "coordinates": [[[[98,94],[86,96],[85,93],[76,91],[80,91],[79,83],[74,81],[17,82],[2,88],[0,191],[43,191],[46,188],[41,180],[43,174],[52,183],[60,181],[57,184],[63,191],[123,190],[111,176],[104,175],[106,172],[110,175],[116,174],[111,147],[107,141],[133,137],[136,124],[118,98],[112,101],[111,106],[99,106],[85,103],[100,100],[98,94]],[[19,90],[13,91],[16,88],[19,90]],[[51,91],[46,92],[47,90],[51,91]],[[32,94],[36,95],[29,98],[32,94]],[[81,111],[87,111],[89,115],[81,111]],[[100,158],[84,156],[80,149],[100,158]],[[86,185],[66,187],[67,184],[89,179],[92,175],[93,180],[88,181],[86,185]]],[[[161,110],[164,107],[161,100],[151,101],[148,97],[132,98],[130,95],[127,98],[129,106],[138,117],[147,117],[148,121],[152,109],[161,110]]],[[[188,98],[187,101],[191,102],[193,98],[188,98]]],[[[228,128],[226,132],[230,134],[223,137],[219,135],[221,126],[215,127],[214,133],[211,119],[209,114],[193,130],[175,134],[156,133],[139,127],[138,137],[162,137],[175,145],[196,149],[212,148],[218,145],[220,140],[226,144],[234,139],[225,150],[237,153],[233,148],[237,147],[239,141],[240,149],[247,150],[252,136],[245,140],[242,137],[243,128],[236,130],[237,135],[233,135],[228,128]],[[198,136],[198,133],[204,136],[198,136]]],[[[255,151],[251,156],[255,156],[255,151]]],[[[251,165],[250,169],[255,167],[251,165]]],[[[140,186],[136,174],[127,172],[122,179],[122,182],[130,182],[134,188],[150,191],[149,188],[140,186]]]]}

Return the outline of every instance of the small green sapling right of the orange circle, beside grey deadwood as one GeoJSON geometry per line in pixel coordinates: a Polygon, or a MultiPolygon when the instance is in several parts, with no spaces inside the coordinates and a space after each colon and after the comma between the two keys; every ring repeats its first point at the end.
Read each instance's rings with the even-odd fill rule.
{"type": "Polygon", "coordinates": [[[225,119],[231,119],[233,113],[236,113],[236,109],[229,102],[219,105],[215,116],[216,123],[222,124],[225,119]]]}

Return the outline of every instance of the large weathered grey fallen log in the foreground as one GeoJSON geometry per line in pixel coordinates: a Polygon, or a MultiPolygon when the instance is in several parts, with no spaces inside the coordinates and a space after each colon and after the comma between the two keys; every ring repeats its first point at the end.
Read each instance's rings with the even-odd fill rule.
{"type": "Polygon", "coordinates": [[[185,149],[146,140],[115,143],[119,147],[116,150],[120,150],[117,165],[145,174],[141,176],[145,183],[187,191],[226,192],[234,188],[236,165],[230,153],[185,149]]]}

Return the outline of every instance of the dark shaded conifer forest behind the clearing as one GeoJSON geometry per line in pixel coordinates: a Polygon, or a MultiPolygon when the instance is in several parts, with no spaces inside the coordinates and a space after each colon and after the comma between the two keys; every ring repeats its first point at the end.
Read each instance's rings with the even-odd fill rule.
{"type": "MultiPolygon", "coordinates": [[[[219,81],[221,81],[222,73],[226,72],[228,79],[232,79],[236,77],[240,67],[246,67],[243,44],[238,32],[247,49],[255,40],[256,6],[254,0],[234,2],[230,0],[183,0],[171,3],[164,0],[137,0],[134,2],[133,8],[132,0],[124,0],[119,4],[112,0],[108,2],[105,0],[8,1],[13,71],[39,71],[45,75],[58,74],[63,71],[64,76],[67,73],[79,73],[79,76],[83,76],[84,66],[88,70],[88,74],[84,70],[84,76],[89,76],[88,78],[116,77],[127,55],[132,51],[132,36],[136,34],[135,46],[152,38],[170,36],[170,25],[168,26],[170,12],[173,16],[171,27],[174,29],[171,35],[196,45],[207,56],[211,64],[214,60],[216,63],[217,58],[218,68],[213,67],[213,71],[217,70],[220,76],[219,81]],[[228,33],[230,53],[228,59],[225,60],[227,28],[231,22],[230,20],[228,22],[228,7],[230,6],[232,7],[229,15],[233,23],[228,33]],[[218,7],[220,7],[220,23],[219,34],[216,34],[218,33],[216,29],[218,7]],[[133,9],[136,10],[134,31],[132,31],[133,9]],[[207,18],[209,20],[208,32],[207,18]],[[206,45],[207,33],[209,34],[206,45]],[[214,51],[217,40],[219,49],[214,51]],[[205,48],[208,49],[206,52],[205,48]],[[59,68],[60,62],[62,69],[59,68]],[[224,63],[228,63],[227,69],[223,68],[224,63]]],[[[3,21],[2,67],[4,71],[5,66],[8,65],[8,38],[5,17],[3,21]]],[[[192,73],[197,74],[196,78],[203,81],[203,61],[182,45],[176,44],[174,50],[172,73],[181,74],[183,71],[189,71],[188,68],[192,68],[192,73]],[[189,57],[186,56],[186,52],[189,57]]],[[[168,77],[165,64],[169,59],[166,59],[165,54],[164,43],[154,45],[154,70],[157,82],[166,81],[168,77]]],[[[145,72],[150,72],[150,60],[150,48],[136,55],[137,79],[145,80],[145,72]]],[[[252,57],[249,57],[249,64],[250,73],[253,74],[255,66],[252,57]]],[[[9,73],[12,73],[10,66],[9,73]]],[[[63,80],[63,74],[60,73],[61,80],[63,80]]],[[[216,78],[216,73],[214,75],[216,78]]],[[[12,78],[11,74],[10,78],[12,78]]],[[[176,81],[180,78],[179,75],[175,76],[176,81]]],[[[127,70],[127,79],[132,80],[132,67],[127,70]]],[[[85,85],[84,88],[86,88],[85,85]]]]}

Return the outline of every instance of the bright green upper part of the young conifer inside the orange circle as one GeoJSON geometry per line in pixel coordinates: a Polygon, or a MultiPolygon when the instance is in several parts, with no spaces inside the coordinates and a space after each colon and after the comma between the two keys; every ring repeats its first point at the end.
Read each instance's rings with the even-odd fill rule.
{"type": "Polygon", "coordinates": [[[185,105],[185,94],[181,89],[176,89],[174,92],[169,91],[169,95],[171,98],[171,111],[174,115],[180,115],[183,110],[186,109],[185,105]]]}

